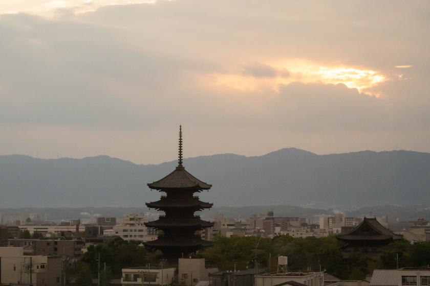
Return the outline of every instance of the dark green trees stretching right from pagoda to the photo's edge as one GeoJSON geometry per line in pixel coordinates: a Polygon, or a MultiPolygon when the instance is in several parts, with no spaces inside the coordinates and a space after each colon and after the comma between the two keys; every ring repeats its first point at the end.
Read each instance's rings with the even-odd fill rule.
{"type": "Polygon", "coordinates": [[[292,271],[326,270],[341,279],[363,279],[376,268],[423,267],[430,264],[430,242],[410,245],[396,241],[381,253],[343,253],[335,236],[294,238],[288,235],[273,239],[260,237],[218,237],[213,247],[201,256],[222,270],[253,268],[254,257],[261,268],[276,270],[277,256],[288,256],[292,271]],[[255,251],[255,249],[257,249],[255,251]],[[256,253],[256,254],[255,254],[256,253]],[[269,260],[269,257],[272,257],[269,260]]]}

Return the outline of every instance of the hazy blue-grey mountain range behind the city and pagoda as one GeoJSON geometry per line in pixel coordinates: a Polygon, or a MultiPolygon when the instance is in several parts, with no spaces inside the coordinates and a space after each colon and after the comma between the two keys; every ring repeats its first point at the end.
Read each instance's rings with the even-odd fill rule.
{"type": "MultiPolygon", "coordinates": [[[[107,156],[36,159],[0,156],[0,207],[141,206],[159,194],[146,183],[176,162],[136,165],[107,156]]],[[[217,206],[430,203],[430,154],[411,151],[316,155],[294,148],[258,157],[185,159],[213,185],[201,197],[217,206]]]]}

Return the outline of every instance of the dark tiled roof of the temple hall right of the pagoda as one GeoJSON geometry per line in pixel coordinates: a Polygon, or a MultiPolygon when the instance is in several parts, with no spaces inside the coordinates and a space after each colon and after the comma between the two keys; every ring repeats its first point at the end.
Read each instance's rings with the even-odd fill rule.
{"type": "Polygon", "coordinates": [[[403,238],[402,235],[395,234],[383,227],[376,218],[364,218],[357,227],[336,237],[341,241],[384,241],[403,238]]]}

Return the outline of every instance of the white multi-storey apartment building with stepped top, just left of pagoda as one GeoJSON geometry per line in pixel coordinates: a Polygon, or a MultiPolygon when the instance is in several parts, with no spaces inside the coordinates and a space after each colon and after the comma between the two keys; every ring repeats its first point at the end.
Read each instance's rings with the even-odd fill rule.
{"type": "Polygon", "coordinates": [[[144,223],[148,218],[141,213],[132,213],[122,218],[120,224],[113,227],[114,235],[126,241],[152,241],[157,239],[155,230],[148,229],[144,223]]]}

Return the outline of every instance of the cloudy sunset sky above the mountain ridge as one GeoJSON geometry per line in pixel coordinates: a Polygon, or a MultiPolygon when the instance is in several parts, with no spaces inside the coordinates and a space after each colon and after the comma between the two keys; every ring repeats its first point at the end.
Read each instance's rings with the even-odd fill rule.
{"type": "Polygon", "coordinates": [[[0,154],[430,152],[430,2],[0,2],[0,154]]]}

